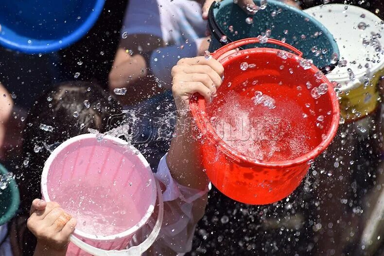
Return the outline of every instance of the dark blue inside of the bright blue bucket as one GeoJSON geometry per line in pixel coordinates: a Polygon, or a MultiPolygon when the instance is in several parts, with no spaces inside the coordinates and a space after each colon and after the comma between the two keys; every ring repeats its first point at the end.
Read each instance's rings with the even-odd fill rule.
{"type": "Polygon", "coordinates": [[[87,20],[95,6],[95,0],[3,0],[1,3],[1,36],[18,38],[25,45],[34,45],[36,41],[47,44],[66,37],[87,20]]]}

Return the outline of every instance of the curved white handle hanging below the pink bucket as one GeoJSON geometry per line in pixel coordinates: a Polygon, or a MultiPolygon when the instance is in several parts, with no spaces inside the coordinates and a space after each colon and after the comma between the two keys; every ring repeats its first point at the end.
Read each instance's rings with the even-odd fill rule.
{"type": "Polygon", "coordinates": [[[93,247],[92,245],[87,244],[86,242],[78,239],[74,235],[70,236],[70,241],[74,243],[77,247],[81,248],[82,250],[86,251],[87,253],[93,255],[93,256],[140,256],[142,255],[146,250],[151,247],[151,245],[155,242],[157,239],[157,236],[161,229],[161,224],[163,222],[164,218],[164,202],[163,202],[163,195],[161,193],[160,184],[157,179],[156,180],[156,187],[157,187],[157,198],[158,198],[158,215],[157,215],[157,221],[156,224],[151,232],[149,234],[148,238],[145,239],[140,245],[132,246],[128,249],[124,250],[103,250],[96,247],[93,247]]]}

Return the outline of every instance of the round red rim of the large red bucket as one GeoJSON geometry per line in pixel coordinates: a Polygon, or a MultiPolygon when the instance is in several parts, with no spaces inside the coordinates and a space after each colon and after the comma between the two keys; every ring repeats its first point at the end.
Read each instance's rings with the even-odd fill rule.
{"type": "MultiPolygon", "coordinates": [[[[250,51],[254,50],[255,52],[265,53],[265,50],[272,51],[274,53],[277,53],[277,51],[283,51],[278,50],[274,48],[252,48],[252,49],[246,49],[242,51],[250,51]]],[[[286,51],[289,53],[288,51],[286,51]]],[[[248,52],[249,53],[249,52],[248,52]]],[[[227,62],[229,62],[228,57],[233,54],[239,54],[238,52],[232,53],[230,55],[227,55],[224,59],[220,60],[220,62],[225,66],[227,62]],[[224,60],[224,63],[223,63],[224,60]]],[[[243,54],[242,54],[243,55],[243,54]]],[[[249,55],[249,54],[244,54],[249,55]]],[[[299,56],[295,56],[294,58],[297,59],[303,59],[299,56]]],[[[312,72],[316,73],[320,71],[318,68],[316,68],[314,65],[311,67],[312,72]]],[[[201,95],[194,95],[190,101],[190,109],[192,112],[192,116],[196,121],[196,124],[200,130],[200,132],[205,136],[209,141],[214,144],[216,147],[218,147],[222,153],[224,153],[227,157],[230,159],[238,162],[239,164],[245,164],[245,165],[258,165],[263,168],[290,168],[295,167],[302,164],[310,165],[310,160],[313,160],[315,157],[317,157],[321,152],[323,152],[332,142],[333,138],[336,135],[338,126],[339,126],[339,119],[340,119],[340,109],[339,109],[339,102],[336,97],[336,93],[333,90],[332,83],[328,80],[328,78],[323,75],[320,78],[320,83],[326,83],[328,85],[327,95],[329,95],[331,99],[331,106],[332,106],[332,119],[330,128],[328,130],[328,133],[325,137],[325,139],[322,139],[322,141],[310,152],[307,154],[303,154],[297,158],[286,160],[286,161],[264,161],[259,160],[253,157],[245,156],[244,154],[240,153],[239,151],[231,148],[223,139],[220,139],[215,132],[213,126],[210,124],[209,117],[206,113],[206,101],[201,95]],[[218,139],[219,138],[219,139],[218,139]]]]}

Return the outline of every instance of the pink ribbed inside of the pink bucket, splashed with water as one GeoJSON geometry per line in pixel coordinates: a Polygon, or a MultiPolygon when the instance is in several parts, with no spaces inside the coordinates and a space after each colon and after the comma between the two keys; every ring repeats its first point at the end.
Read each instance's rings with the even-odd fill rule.
{"type": "Polygon", "coordinates": [[[77,219],[76,229],[110,236],[137,225],[153,210],[156,186],[151,174],[128,146],[85,138],[56,155],[47,188],[50,200],[77,219]]]}

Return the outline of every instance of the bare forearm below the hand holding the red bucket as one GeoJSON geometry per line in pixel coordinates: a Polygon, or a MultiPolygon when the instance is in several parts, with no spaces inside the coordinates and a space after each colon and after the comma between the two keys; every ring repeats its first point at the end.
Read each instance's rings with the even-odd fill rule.
{"type": "Polygon", "coordinates": [[[193,136],[194,125],[192,117],[178,119],[167,164],[177,183],[204,190],[209,180],[203,171],[199,141],[193,136]]]}

